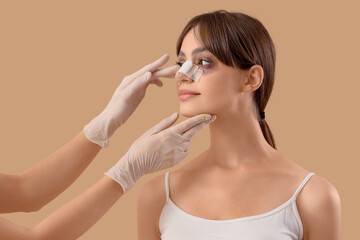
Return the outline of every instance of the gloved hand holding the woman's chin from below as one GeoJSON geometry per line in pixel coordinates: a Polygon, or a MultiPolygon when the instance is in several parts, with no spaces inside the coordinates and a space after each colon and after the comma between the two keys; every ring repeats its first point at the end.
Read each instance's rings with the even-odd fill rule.
{"type": "Polygon", "coordinates": [[[210,114],[200,114],[168,128],[177,118],[178,113],[174,113],[146,131],[105,173],[122,186],[124,194],[141,176],[172,167],[184,159],[191,138],[216,119],[210,114]]]}

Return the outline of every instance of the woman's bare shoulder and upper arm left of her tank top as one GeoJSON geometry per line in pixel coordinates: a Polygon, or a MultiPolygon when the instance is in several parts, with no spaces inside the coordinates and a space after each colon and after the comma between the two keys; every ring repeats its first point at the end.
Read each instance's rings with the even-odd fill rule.
{"type": "Polygon", "coordinates": [[[165,176],[155,177],[144,185],[138,196],[138,240],[159,240],[159,219],[166,203],[165,176]]]}

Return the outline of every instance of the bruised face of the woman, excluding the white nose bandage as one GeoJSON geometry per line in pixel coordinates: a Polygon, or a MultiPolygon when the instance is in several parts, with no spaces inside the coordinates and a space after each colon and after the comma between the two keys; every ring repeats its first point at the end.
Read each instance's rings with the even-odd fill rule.
{"type": "Polygon", "coordinates": [[[241,89],[245,71],[220,62],[199,45],[193,29],[185,36],[178,55],[178,62],[184,63],[186,60],[192,60],[204,73],[197,82],[183,74],[177,74],[180,113],[186,117],[201,113],[215,114],[218,117],[239,113],[243,101],[241,89]],[[181,94],[184,90],[198,94],[181,94]]]}

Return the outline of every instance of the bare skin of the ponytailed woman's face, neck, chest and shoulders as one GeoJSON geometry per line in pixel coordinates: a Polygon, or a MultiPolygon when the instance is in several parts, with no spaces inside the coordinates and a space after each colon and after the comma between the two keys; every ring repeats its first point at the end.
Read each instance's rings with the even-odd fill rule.
{"type": "MultiPolygon", "coordinates": [[[[170,199],[183,211],[205,219],[266,213],[290,199],[309,171],[273,149],[263,137],[252,100],[262,83],[263,69],[258,65],[249,70],[235,69],[207,51],[193,56],[198,48],[202,46],[192,30],[184,38],[178,60],[193,60],[207,67],[198,82],[177,76],[178,89],[200,93],[180,101],[180,113],[190,117],[206,112],[217,119],[209,126],[210,147],[170,173],[170,199]]],[[[161,239],[164,179],[164,174],[155,177],[139,194],[138,239],[161,239]]],[[[325,178],[312,176],[296,204],[303,239],[341,239],[340,197],[325,178]]]]}

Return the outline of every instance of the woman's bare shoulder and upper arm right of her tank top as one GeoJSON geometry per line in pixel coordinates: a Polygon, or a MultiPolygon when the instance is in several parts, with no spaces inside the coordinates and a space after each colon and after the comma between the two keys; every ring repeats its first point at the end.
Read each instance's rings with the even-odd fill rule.
{"type": "Polygon", "coordinates": [[[304,240],[341,239],[340,196],[327,179],[312,176],[296,204],[304,227],[304,240]]]}

